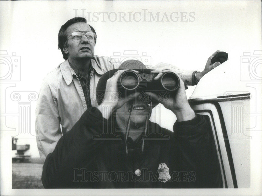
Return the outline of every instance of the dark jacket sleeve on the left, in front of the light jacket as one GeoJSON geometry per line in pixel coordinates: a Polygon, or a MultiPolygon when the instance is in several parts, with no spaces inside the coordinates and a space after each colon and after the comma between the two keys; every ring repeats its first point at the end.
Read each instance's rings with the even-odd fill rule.
{"type": "Polygon", "coordinates": [[[95,107],[83,113],[73,128],[59,139],[54,151],[47,155],[42,172],[45,188],[69,188],[68,183],[74,177],[73,168],[86,168],[88,163],[91,165],[95,150],[105,141],[93,136],[100,135],[107,123],[95,107]]]}

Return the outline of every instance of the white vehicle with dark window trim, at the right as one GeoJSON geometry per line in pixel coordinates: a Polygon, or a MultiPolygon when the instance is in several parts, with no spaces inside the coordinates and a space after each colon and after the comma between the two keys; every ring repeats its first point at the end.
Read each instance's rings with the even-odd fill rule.
{"type": "Polygon", "coordinates": [[[250,188],[252,88],[241,81],[230,65],[228,60],[206,74],[190,96],[189,103],[196,113],[208,119],[212,127],[223,188],[250,188]]]}

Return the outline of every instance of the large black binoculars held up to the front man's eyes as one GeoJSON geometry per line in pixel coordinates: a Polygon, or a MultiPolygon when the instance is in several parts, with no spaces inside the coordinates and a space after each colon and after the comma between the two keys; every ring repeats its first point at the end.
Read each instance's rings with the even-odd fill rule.
{"type": "Polygon", "coordinates": [[[154,80],[158,74],[136,73],[133,70],[123,72],[118,79],[118,87],[121,89],[133,91],[175,92],[180,85],[179,77],[173,72],[164,73],[159,79],[154,80]]]}

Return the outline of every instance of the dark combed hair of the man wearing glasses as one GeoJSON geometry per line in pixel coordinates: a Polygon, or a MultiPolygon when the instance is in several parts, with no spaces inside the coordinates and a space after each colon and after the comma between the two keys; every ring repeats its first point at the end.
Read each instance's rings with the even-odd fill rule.
{"type": "MultiPolygon", "coordinates": [[[[75,18],[68,20],[65,24],[63,24],[61,26],[59,32],[58,32],[58,49],[61,50],[61,52],[63,54],[63,58],[65,60],[67,59],[67,54],[64,53],[63,48],[64,48],[65,42],[67,40],[66,30],[70,25],[72,25],[74,23],[79,23],[79,22],[87,23],[85,18],[75,17],[75,18]]],[[[91,25],[89,25],[89,26],[90,26],[92,32],[96,32],[95,29],[91,25]]],[[[96,43],[96,37],[95,37],[95,43],[96,43]]]]}

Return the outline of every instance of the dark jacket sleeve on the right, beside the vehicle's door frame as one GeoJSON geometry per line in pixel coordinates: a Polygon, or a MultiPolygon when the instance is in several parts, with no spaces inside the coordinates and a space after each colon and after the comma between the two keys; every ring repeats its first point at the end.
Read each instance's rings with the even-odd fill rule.
{"type": "Polygon", "coordinates": [[[220,164],[208,121],[196,114],[190,121],[176,122],[173,129],[178,148],[178,169],[190,172],[187,186],[220,188],[220,164]]]}

